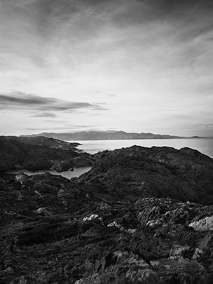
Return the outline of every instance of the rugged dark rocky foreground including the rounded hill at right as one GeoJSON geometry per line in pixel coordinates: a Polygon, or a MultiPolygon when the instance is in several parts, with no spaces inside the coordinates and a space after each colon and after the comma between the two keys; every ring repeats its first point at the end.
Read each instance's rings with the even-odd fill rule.
{"type": "Polygon", "coordinates": [[[1,284],[213,283],[213,160],[130,147],[0,178],[1,284]]]}

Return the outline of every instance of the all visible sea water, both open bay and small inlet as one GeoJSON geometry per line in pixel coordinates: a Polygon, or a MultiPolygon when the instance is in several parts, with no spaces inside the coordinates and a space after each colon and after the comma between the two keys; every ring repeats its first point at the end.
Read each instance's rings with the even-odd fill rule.
{"type": "MultiPolygon", "coordinates": [[[[167,146],[173,147],[175,149],[181,149],[183,147],[189,147],[195,150],[200,151],[202,154],[205,154],[213,158],[213,138],[191,138],[191,139],[149,139],[149,140],[89,140],[89,141],[67,141],[67,142],[78,142],[81,145],[78,146],[78,149],[86,151],[90,154],[95,154],[99,151],[104,150],[114,150],[121,149],[123,147],[130,147],[133,145],[139,145],[142,147],[153,147],[153,146],[167,146]]],[[[79,177],[83,173],[88,172],[91,167],[82,167],[74,168],[73,171],[66,171],[62,173],[57,173],[55,170],[39,170],[32,172],[29,170],[11,170],[8,173],[26,173],[27,175],[36,175],[42,173],[52,173],[53,175],[62,175],[71,179],[72,177],[79,177]]]]}

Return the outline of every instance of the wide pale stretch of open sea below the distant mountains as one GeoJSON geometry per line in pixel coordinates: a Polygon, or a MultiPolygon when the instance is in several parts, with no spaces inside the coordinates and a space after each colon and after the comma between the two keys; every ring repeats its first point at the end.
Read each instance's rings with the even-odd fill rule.
{"type": "Polygon", "coordinates": [[[82,149],[90,154],[95,154],[98,151],[114,150],[122,147],[130,147],[132,145],[139,145],[143,147],[152,146],[167,146],[176,149],[189,147],[200,151],[202,154],[213,158],[213,139],[212,138],[198,138],[198,139],[149,139],[149,140],[90,140],[90,141],[68,141],[78,142],[82,149]]]}

